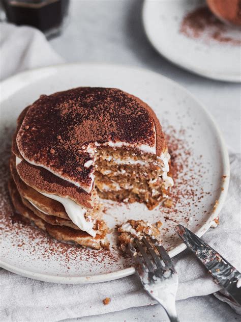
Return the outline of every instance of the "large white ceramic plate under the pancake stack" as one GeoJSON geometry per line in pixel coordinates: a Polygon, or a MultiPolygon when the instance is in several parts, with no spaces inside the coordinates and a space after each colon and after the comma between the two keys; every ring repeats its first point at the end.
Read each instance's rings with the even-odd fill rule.
{"type": "MultiPolygon", "coordinates": [[[[126,219],[161,220],[163,245],[174,256],[185,249],[174,234],[176,223],[201,236],[218,216],[228,189],[228,153],[215,122],[189,92],[160,74],[123,66],[67,64],[30,70],[7,79],[1,86],[1,266],[49,282],[93,283],[134,273],[130,259],[120,256],[116,249],[107,252],[66,245],[36,227],[12,222],[9,216],[12,210],[6,189],[7,158],[17,116],[41,94],[78,86],[116,87],[147,102],[170,136],[175,164],[183,168],[172,190],[178,196],[175,207],[149,211],[143,204],[106,202],[105,219],[110,227],[126,219]]],[[[109,237],[113,243],[116,236],[109,237]]]]}

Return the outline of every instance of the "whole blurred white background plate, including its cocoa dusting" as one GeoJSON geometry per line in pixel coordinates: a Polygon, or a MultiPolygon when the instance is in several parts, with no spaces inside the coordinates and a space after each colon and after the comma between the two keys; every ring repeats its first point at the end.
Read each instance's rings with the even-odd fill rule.
{"type": "Polygon", "coordinates": [[[145,0],[142,18],[147,38],[180,67],[219,81],[241,82],[240,29],[222,24],[204,7],[202,0],[145,0]],[[183,25],[190,12],[192,19],[183,25]]]}

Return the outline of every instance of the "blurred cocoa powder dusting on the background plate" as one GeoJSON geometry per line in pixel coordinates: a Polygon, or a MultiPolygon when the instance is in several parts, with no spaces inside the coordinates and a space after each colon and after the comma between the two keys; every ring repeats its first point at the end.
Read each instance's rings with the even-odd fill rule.
{"type": "Polygon", "coordinates": [[[220,21],[207,7],[199,7],[183,18],[179,31],[189,38],[213,40],[233,46],[241,45],[240,33],[239,37],[233,38],[229,34],[232,30],[237,28],[220,21]]]}

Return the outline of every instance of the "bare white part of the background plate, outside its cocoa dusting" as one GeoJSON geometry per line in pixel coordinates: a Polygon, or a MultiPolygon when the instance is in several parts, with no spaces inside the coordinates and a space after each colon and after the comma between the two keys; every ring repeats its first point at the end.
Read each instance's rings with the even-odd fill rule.
{"type": "MultiPolygon", "coordinates": [[[[241,82],[240,46],[212,41],[206,35],[188,38],[179,32],[183,18],[204,4],[203,0],[145,0],[145,33],[157,51],[172,63],[205,77],[241,82]]],[[[226,36],[241,40],[236,28],[229,27],[226,36]]]]}

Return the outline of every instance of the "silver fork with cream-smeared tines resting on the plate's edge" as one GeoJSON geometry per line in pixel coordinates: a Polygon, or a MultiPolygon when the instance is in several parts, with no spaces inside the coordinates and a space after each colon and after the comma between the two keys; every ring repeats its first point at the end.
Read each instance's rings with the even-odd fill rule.
{"type": "Polygon", "coordinates": [[[159,255],[145,237],[142,237],[141,241],[146,246],[148,253],[142,246],[141,241],[134,238],[136,247],[134,243],[130,243],[128,244],[128,249],[136,266],[136,271],[144,290],[162,305],[171,322],[178,322],[175,308],[175,297],[178,286],[177,273],[171,258],[161,243],[148,235],[147,238],[152,240],[159,255]],[[138,254],[138,251],[142,256],[138,254]]]}

